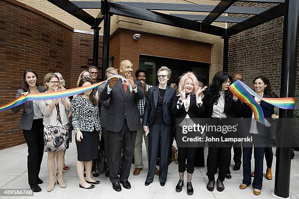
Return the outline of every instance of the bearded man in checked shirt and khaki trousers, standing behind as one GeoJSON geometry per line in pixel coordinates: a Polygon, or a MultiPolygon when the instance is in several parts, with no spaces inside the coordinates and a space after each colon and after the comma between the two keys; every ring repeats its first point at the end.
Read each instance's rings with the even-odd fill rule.
{"type": "MultiPolygon", "coordinates": [[[[145,69],[138,69],[135,72],[135,77],[137,81],[141,82],[143,92],[145,93],[145,97],[147,96],[148,90],[150,87],[152,87],[149,84],[146,84],[146,80],[148,78],[148,72],[145,69]]],[[[144,106],[145,106],[145,98],[142,100],[139,100],[137,102],[139,114],[140,114],[140,120],[142,123],[143,113],[144,113],[144,106]]],[[[149,157],[149,138],[147,137],[145,131],[143,128],[140,128],[137,130],[136,134],[136,140],[135,140],[135,148],[134,148],[134,165],[135,170],[133,172],[134,176],[138,176],[140,174],[140,171],[143,169],[143,163],[142,163],[142,137],[144,138],[144,141],[146,143],[147,148],[147,157],[149,157]]],[[[159,170],[155,170],[155,174],[159,175],[159,170]]]]}

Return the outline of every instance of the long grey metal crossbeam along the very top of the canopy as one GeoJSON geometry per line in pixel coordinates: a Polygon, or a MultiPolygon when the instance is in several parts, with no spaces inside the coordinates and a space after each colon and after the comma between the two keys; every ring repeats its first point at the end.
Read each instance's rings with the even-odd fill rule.
{"type": "MultiPolygon", "coordinates": [[[[72,1],[82,9],[101,8],[99,1],[72,1]]],[[[189,11],[189,12],[212,12],[216,7],[215,5],[202,5],[202,4],[182,4],[182,3],[148,3],[148,2],[114,2],[132,7],[138,7],[148,10],[166,10],[166,11],[189,11]]],[[[257,15],[266,11],[268,8],[256,7],[240,7],[231,6],[224,13],[230,14],[246,14],[257,15]]]]}

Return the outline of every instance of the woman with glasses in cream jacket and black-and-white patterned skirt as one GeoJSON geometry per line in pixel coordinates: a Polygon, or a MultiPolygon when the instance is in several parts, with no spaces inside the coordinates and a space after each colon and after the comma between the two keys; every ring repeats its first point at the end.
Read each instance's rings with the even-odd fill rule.
{"type": "MultiPolygon", "coordinates": [[[[44,76],[43,85],[47,88],[46,92],[54,92],[58,89],[59,78],[54,73],[44,76]]],[[[56,100],[40,100],[39,107],[43,113],[43,139],[44,152],[48,152],[48,172],[49,183],[47,192],[54,189],[55,185],[55,157],[57,156],[58,178],[57,183],[61,188],[66,184],[63,178],[64,153],[68,149],[68,111],[71,104],[68,98],[56,100]]]]}

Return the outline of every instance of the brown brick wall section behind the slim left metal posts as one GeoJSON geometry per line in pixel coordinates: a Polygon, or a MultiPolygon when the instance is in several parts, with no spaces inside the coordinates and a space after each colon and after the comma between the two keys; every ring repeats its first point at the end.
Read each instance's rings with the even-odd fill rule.
{"type": "MultiPolygon", "coordinates": [[[[70,74],[70,86],[75,88],[78,77],[83,70],[91,66],[93,53],[93,35],[85,33],[73,33],[72,35],[72,67],[70,74]]],[[[99,70],[98,79],[102,77],[103,37],[99,37],[99,70]]]]}

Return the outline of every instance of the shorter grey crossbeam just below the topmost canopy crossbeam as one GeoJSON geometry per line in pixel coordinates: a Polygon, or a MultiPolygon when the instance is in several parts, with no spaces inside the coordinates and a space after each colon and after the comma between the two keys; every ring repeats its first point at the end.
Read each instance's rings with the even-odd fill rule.
{"type": "MultiPolygon", "coordinates": [[[[184,18],[187,20],[203,21],[207,16],[206,15],[184,15],[184,14],[170,14],[175,17],[184,18]]],[[[225,23],[240,23],[244,20],[248,20],[248,17],[227,17],[220,16],[215,22],[225,22],[225,23]]]]}

